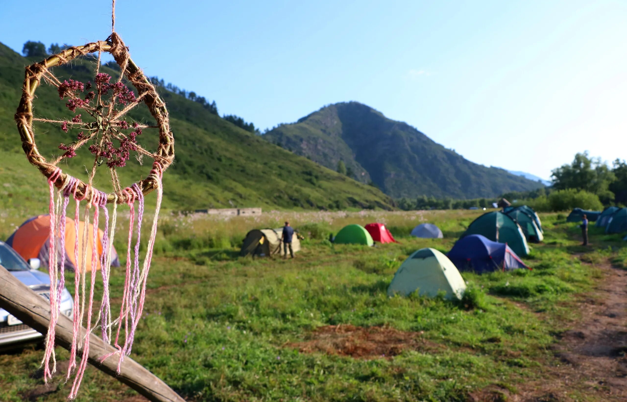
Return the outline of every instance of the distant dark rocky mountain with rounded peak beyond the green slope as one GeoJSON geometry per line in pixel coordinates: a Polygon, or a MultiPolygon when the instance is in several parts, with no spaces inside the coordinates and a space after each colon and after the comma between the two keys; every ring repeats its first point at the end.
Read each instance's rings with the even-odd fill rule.
{"type": "Polygon", "coordinates": [[[446,149],[404,122],[358,102],[335,103],[263,137],[298,155],[371,181],[394,198],[493,197],[541,186],[498,167],[485,167],[446,149]]]}

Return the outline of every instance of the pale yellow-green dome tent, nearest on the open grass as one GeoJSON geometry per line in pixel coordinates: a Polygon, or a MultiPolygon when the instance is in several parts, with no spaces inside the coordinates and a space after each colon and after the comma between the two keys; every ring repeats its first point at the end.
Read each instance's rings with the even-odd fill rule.
{"type": "Polygon", "coordinates": [[[419,295],[429,297],[443,290],[447,299],[461,299],[466,283],[446,255],[433,248],[423,248],[414,251],[401,264],[387,288],[387,295],[407,296],[416,290],[419,295]]]}

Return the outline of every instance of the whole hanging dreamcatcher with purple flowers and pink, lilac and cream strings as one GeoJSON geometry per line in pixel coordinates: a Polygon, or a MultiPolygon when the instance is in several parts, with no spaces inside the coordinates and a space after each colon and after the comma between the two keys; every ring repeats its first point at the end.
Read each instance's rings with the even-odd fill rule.
{"type": "MultiPolygon", "coordinates": [[[[22,147],[28,161],[36,166],[48,179],[50,188],[50,310],[51,319],[46,334],[45,354],[42,361],[44,379],[48,381],[56,370],[55,358],[55,325],[59,317],[61,290],[65,286],[65,231],[75,231],[74,257],[75,296],[73,309],[73,342],[70,351],[70,367],[67,379],[75,373],[70,398],[75,398],[87,368],[89,351],[89,334],[100,327],[103,341],[117,349],[116,352],[103,356],[102,360],[117,355],[120,364],[130,354],[134,341],[135,329],[142,315],[145,300],[146,280],[150,270],[152,250],[157,233],[157,217],[162,200],[162,175],[174,160],[174,137],[169,127],[166,105],[144,73],[130,59],[129,48],[124,45],[120,36],[115,33],[115,0],[113,0],[112,34],[105,41],[88,43],[84,46],[73,46],[50,56],[40,63],[26,67],[23,95],[15,115],[22,147]],[[100,72],[100,58],[103,53],[113,56],[120,67],[119,77],[114,78],[100,72]],[[75,58],[97,54],[97,66],[93,82],[63,80],[57,78],[52,69],[65,65],[75,58]],[[74,117],[68,120],[46,119],[34,114],[33,100],[35,90],[42,80],[56,87],[59,97],[66,102],[65,106],[74,117]],[[127,86],[127,83],[130,84],[127,86]],[[134,90],[137,91],[135,94],[134,90]],[[128,113],[140,103],[144,103],[155,119],[156,124],[147,125],[134,121],[128,113]],[[36,133],[33,122],[59,125],[64,132],[74,134],[73,142],[60,144],[60,156],[47,161],[36,145],[36,133]],[[144,149],[138,139],[150,135],[149,130],[158,130],[159,145],[156,152],[144,149]],[[146,133],[144,133],[144,130],[146,133]],[[61,171],[58,164],[71,161],[81,147],[87,147],[94,156],[93,166],[88,172],[87,181],[70,176],[61,171]],[[143,180],[125,187],[120,184],[117,169],[124,167],[132,152],[140,157],[153,160],[150,174],[143,180]],[[104,193],[94,186],[94,177],[98,167],[108,168],[113,183],[113,191],[104,193]],[[157,191],[157,203],[152,220],[144,260],[140,263],[140,233],[144,215],[144,194],[157,191]],[[70,198],[75,200],[74,225],[66,225],[66,208],[70,198]],[[112,204],[112,216],[109,216],[108,204],[112,204]],[[117,220],[117,207],[127,204],[130,209],[130,224],[127,238],[127,263],[124,282],[124,293],[119,317],[112,320],[109,302],[110,263],[113,236],[117,220]],[[84,206],[83,220],[85,225],[78,225],[81,218],[81,206],[84,206]],[[101,215],[102,210],[102,215],[101,215]],[[90,225],[90,219],[92,225],[90,225]],[[103,220],[103,222],[101,222],[103,220]],[[98,241],[98,225],[103,225],[102,255],[96,251],[91,253],[89,283],[87,283],[87,244],[98,241]],[[71,227],[73,226],[73,227],[71,227]],[[82,227],[82,231],[80,230],[82,227]],[[93,228],[93,229],[92,229],[93,228]],[[80,236],[80,237],[79,237],[80,236]],[[79,238],[82,242],[79,242],[79,238]],[[82,246],[80,246],[82,245],[82,246]],[[132,250],[132,251],[131,251],[132,250]],[[94,300],[94,286],[100,268],[103,282],[103,295],[100,305],[94,300]],[[57,284],[58,285],[55,285],[57,284]],[[95,323],[92,323],[92,315],[95,323]],[[86,320],[87,336],[81,336],[81,327],[86,320]],[[99,325],[98,325],[99,324],[99,325]],[[124,336],[120,337],[123,331],[124,336]],[[82,351],[80,361],[77,352],[82,351]]],[[[71,222],[67,220],[67,222],[71,222]]],[[[96,248],[94,247],[94,250],[96,248]]]]}

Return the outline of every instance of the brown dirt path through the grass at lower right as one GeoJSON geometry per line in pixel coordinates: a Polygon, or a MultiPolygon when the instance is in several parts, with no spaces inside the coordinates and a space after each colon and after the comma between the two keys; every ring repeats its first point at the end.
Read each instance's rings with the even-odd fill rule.
{"type": "Polygon", "coordinates": [[[627,401],[627,271],[604,264],[605,278],[577,303],[582,317],[553,349],[561,364],[519,387],[521,402],[627,401]]]}

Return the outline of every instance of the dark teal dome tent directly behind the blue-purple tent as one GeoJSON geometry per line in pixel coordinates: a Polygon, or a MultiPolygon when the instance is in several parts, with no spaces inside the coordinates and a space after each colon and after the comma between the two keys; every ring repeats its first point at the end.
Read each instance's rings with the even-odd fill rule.
{"type": "Polygon", "coordinates": [[[529,254],[529,245],[522,229],[514,219],[502,212],[493,211],[479,216],[470,223],[462,237],[468,235],[483,235],[489,240],[507,243],[520,257],[529,254]]]}

